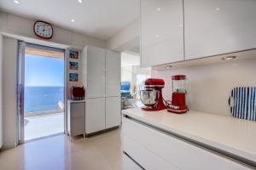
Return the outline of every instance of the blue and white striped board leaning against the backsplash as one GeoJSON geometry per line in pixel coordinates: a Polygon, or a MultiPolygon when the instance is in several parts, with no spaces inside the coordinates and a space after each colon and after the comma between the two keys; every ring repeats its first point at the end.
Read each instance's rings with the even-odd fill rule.
{"type": "Polygon", "coordinates": [[[237,87],[231,91],[229,99],[232,116],[256,121],[256,87],[237,87]]]}

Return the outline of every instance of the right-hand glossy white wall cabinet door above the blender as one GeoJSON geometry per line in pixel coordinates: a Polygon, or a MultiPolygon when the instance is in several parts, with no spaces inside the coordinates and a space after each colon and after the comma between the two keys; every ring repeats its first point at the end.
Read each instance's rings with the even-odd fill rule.
{"type": "Polygon", "coordinates": [[[185,59],[256,48],[256,1],[184,0],[185,59]]]}

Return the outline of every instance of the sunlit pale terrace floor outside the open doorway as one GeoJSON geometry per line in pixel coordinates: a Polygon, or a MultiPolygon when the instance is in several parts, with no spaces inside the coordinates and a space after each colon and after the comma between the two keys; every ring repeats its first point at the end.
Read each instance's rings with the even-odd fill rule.
{"type": "Polygon", "coordinates": [[[64,132],[63,113],[25,117],[25,140],[64,132]]]}

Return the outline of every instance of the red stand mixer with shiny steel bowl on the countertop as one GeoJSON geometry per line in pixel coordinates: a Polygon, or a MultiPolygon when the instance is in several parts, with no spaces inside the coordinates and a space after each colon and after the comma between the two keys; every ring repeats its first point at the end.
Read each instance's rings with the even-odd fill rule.
{"type": "Polygon", "coordinates": [[[148,78],[144,83],[144,90],[140,91],[140,97],[144,104],[143,111],[160,111],[166,109],[162,96],[162,88],[165,81],[158,78],[148,78]]]}

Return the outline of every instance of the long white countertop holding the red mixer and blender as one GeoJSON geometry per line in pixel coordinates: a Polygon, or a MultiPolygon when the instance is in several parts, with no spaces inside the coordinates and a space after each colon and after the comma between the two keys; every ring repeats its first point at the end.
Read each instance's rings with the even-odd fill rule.
{"type": "Polygon", "coordinates": [[[134,108],[122,112],[171,133],[256,162],[256,122],[200,111],[178,115],[166,110],[143,111],[134,108]]]}

